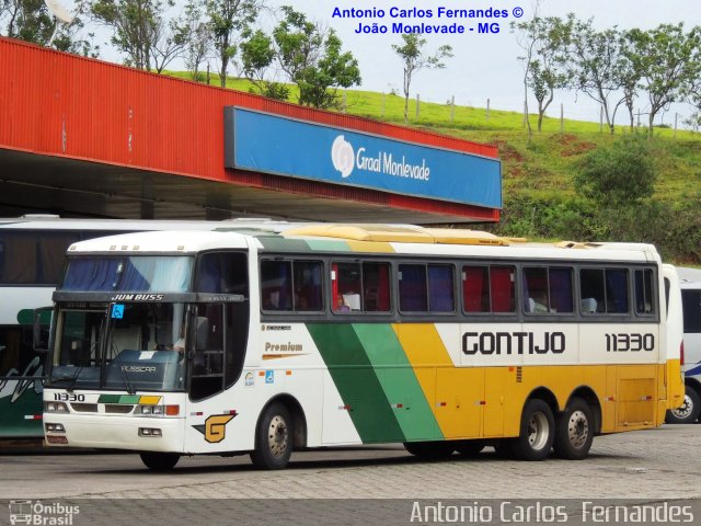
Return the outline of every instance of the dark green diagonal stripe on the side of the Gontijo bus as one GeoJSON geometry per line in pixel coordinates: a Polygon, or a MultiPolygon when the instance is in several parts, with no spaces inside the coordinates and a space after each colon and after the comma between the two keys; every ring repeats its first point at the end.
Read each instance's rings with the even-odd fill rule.
{"type": "Polygon", "coordinates": [[[404,442],[394,410],[370,361],[349,323],[308,325],[331,378],[364,443],[404,442]]]}

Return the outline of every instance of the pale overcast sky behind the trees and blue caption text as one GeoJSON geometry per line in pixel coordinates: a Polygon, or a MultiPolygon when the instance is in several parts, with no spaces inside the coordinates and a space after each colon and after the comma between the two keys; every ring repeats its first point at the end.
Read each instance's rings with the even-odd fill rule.
{"type": "MultiPolygon", "coordinates": [[[[70,5],[69,0],[65,0],[70,5]]],[[[183,2],[184,0],[179,0],[183,2]]],[[[517,60],[520,48],[515,36],[509,32],[509,24],[517,20],[529,20],[533,15],[533,0],[266,0],[273,8],[273,13],[279,13],[276,8],[284,4],[292,5],[321,24],[333,27],[343,42],[344,50],[353,52],[357,58],[363,76],[361,89],[390,92],[402,92],[402,62],[392,50],[392,44],[401,44],[401,36],[392,34],[394,22],[415,24],[426,22],[430,24],[450,24],[456,22],[466,28],[473,27],[473,32],[466,31],[458,35],[424,35],[426,49],[435,50],[438,46],[448,44],[452,47],[453,57],[446,60],[443,70],[422,70],[416,73],[411,85],[412,99],[416,94],[422,101],[446,103],[455,96],[456,104],[484,107],[490,99],[490,106],[498,110],[521,111],[522,94],[522,64],[517,60]],[[399,19],[391,18],[392,7],[400,9],[416,8],[432,10],[432,19],[399,19]],[[489,9],[506,10],[506,19],[438,19],[438,8],[448,9],[489,9]],[[383,18],[376,19],[341,19],[334,18],[334,9],[376,9],[383,10],[383,18]],[[514,11],[520,8],[522,16],[516,19],[514,11]],[[358,24],[378,22],[389,27],[386,34],[357,34],[358,24]],[[495,34],[479,34],[476,23],[498,22],[499,32],[495,34]]],[[[577,19],[594,18],[595,26],[599,28],[651,28],[660,23],[683,22],[686,27],[701,25],[701,0],[541,0],[539,13],[541,16],[565,16],[575,13],[577,19]]],[[[275,15],[275,14],[273,14],[275,15]]],[[[269,16],[268,16],[269,18],[269,16]]],[[[269,27],[269,23],[267,25],[269,27]]],[[[105,53],[103,58],[119,61],[119,57],[105,53]]],[[[177,65],[172,68],[179,69],[177,65]]],[[[184,66],[180,65],[180,69],[184,66]]],[[[212,67],[216,70],[216,67],[212,67]]],[[[560,91],[548,114],[560,115],[560,104],[564,105],[565,117],[598,121],[598,106],[586,94],[575,94],[560,91]]],[[[529,102],[531,111],[535,102],[529,102]]],[[[639,102],[639,110],[645,111],[644,101],[639,102]]],[[[662,115],[666,124],[674,123],[674,113],[680,114],[679,123],[692,113],[691,106],[675,105],[667,114],[662,115]]],[[[619,112],[619,119],[625,118],[624,112],[619,112]]]]}

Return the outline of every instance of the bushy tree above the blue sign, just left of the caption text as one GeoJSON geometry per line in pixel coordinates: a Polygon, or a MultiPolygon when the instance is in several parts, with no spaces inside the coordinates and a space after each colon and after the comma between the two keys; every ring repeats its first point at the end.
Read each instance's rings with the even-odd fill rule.
{"type": "Polygon", "coordinates": [[[280,69],[299,88],[299,104],[332,107],[337,88],[360,83],[358,61],[342,53],[341,39],[333,30],[323,30],[289,5],[281,8],[284,19],[273,31],[275,56],[280,69]]]}

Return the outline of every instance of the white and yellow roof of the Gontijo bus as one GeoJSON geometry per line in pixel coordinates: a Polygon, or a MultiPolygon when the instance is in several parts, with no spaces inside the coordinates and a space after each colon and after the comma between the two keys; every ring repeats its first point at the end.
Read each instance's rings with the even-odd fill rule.
{"type": "Polygon", "coordinates": [[[415,255],[608,260],[659,263],[654,245],[645,243],[529,243],[489,232],[422,228],[411,225],[309,224],[285,228],[229,224],[209,231],[136,232],[73,243],[71,253],[181,252],[245,248],[264,252],[356,252],[415,255]],[[430,247],[428,247],[430,244],[430,247]]]}

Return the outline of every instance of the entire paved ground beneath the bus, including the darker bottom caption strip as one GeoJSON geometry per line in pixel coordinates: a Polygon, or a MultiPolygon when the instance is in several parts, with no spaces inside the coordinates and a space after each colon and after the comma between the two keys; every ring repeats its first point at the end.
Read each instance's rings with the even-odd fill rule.
{"type": "MultiPolygon", "coordinates": [[[[571,499],[562,501],[570,524],[575,524],[572,517],[591,524],[582,515],[584,500],[624,499],[629,506],[630,500],[642,500],[664,505],[665,513],[670,505],[691,503],[699,524],[700,450],[701,425],[597,437],[584,461],[520,462],[487,448],[476,458],[456,455],[428,462],[384,446],[296,453],[284,471],[256,471],[248,456],[184,458],[173,472],[161,474],[146,470],[133,454],[5,449],[0,450],[0,500],[79,503],[82,522],[71,523],[78,526],[134,524],[130,514],[139,521],[148,516],[147,524],[169,525],[231,524],[232,516],[256,525],[307,525],[310,517],[319,524],[412,524],[416,500],[467,503],[471,510],[484,504],[498,514],[505,500],[517,499],[553,506],[552,500],[571,499]],[[326,499],[338,501],[320,501],[326,499]]],[[[624,518],[605,524],[632,522],[624,518]]],[[[4,519],[0,508],[0,524],[4,519]]],[[[435,522],[440,521],[424,523],[435,522]]],[[[461,522],[506,523],[494,517],[461,522]]],[[[670,522],[645,524],[659,523],[670,522]]]]}

